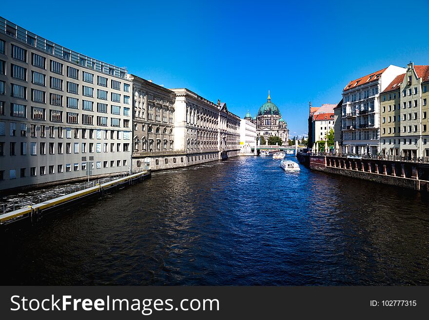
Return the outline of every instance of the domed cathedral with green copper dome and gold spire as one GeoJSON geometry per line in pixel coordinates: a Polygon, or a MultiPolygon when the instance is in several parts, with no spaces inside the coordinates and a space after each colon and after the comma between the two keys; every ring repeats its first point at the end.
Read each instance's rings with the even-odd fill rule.
{"type": "Polygon", "coordinates": [[[278,107],[271,102],[270,91],[268,92],[267,102],[259,108],[257,115],[252,118],[248,111],[244,118],[252,121],[256,125],[257,135],[263,136],[266,143],[268,143],[268,138],[270,136],[277,135],[283,140],[283,145],[288,144],[288,124],[282,118],[278,107]]]}

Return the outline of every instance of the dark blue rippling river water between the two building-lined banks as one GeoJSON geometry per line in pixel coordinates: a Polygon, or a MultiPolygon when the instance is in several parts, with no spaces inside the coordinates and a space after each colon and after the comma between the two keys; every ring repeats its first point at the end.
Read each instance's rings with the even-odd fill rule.
{"type": "Polygon", "coordinates": [[[427,194],[278,165],[235,157],[154,172],[3,231],[0,281],[429,284],[427,194]]]}

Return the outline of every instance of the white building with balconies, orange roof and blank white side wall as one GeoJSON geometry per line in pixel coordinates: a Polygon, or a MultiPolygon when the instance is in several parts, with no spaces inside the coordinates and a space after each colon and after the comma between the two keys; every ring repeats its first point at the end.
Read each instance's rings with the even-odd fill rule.
{"type": "Polygon", "coordinates": [[[343,153],[380,152],[380,92],[405,71],[390,65],[346,85],[342,94],[343,153]]]}

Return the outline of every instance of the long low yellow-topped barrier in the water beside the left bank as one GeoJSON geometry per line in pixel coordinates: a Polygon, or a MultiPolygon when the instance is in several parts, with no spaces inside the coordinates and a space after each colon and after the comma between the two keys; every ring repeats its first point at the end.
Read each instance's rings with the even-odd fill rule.
{"type": "Polygon", "coordinates": [[[12,212],[8,212],[0,215],[0,224],[7,224],[14,221],[18,221],[24,218],[30,218],[32,222],[38,221],[41,217],[43,211],[53,209],[59,205],[64,205],[72,201],[79,200],[88,195],[102,195],[106,191],[110,191],[117,187],[123,187],[124,185],[131,185],[136,182],[140,182],[143,179],[149,178],[151,176],[151,170],[141,171],[128,175],[126,177],[112,180],[103,184],[100,184],[95,187],[86,188],[79,190],[70,194],[66,194],[51,200],[46,200],[37,205],[24,207],[12,212]]]}

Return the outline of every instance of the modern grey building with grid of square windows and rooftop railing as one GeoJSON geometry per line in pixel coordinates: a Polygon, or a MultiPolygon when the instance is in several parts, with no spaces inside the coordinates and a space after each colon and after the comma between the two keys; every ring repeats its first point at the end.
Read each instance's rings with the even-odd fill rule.
{"type": "Polygon", "coordinates": [[[127,70],[0,18],[0,189],[128,171],[127,70]]]}

